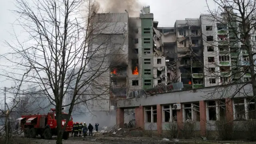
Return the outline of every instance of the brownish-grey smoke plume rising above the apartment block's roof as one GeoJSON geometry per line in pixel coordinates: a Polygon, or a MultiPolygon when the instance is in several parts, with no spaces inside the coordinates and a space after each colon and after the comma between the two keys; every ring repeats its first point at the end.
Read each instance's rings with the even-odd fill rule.
{"type": "Polygon", "coordinates": [[[142,4],[138,0],[98,0],[100,9],[103,12],[125,12],[127,10],[129,16],[139,16],[142,4]]]}

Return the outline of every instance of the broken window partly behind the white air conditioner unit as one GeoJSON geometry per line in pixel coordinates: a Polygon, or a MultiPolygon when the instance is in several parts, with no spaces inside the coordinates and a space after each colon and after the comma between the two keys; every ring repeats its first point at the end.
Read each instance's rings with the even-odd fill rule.
{"type": "Polygon", "coordinates": [[[177,122],[177,110],[173,108],[173,104],[162,106],[163,122],[177,122]]]}

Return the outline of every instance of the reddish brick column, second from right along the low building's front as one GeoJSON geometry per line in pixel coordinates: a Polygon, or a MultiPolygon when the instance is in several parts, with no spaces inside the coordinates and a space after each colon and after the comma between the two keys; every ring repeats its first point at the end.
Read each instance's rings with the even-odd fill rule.
{"type": "Polygon", "coordinates": [[[200,110],[200,135],[206,136],[206,102],[199,102],[199,110],[200,110]]]}

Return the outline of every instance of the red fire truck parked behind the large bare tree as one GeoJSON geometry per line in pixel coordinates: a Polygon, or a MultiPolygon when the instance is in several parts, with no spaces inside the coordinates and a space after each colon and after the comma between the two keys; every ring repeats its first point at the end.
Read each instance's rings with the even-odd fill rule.
{"type": "MultiPolygon", "coordinates": [[[[48,114],[24,115],[17,120],[20,120],[20,125],[26,138],[35,138],[37,135],[40,135],[41,138],[49,140],[52,136],[57,135],[57,120],[55,117],[55,109],[51,108],[48,114]]],[[[69,119],[68,125],[66,126],[63,134],[63,139],[67,140],[69,133],[72,132],[73,119],[72,117],[68,118],[68,114],[64,112],[62,112],[61,118],[62,128],[66,123],[66,120],[69,119]]]]}

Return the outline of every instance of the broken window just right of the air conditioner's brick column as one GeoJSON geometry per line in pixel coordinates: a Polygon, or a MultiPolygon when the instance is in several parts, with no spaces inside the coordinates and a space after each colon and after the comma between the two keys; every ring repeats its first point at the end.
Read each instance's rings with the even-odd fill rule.
{"type": "Polygon", "coordinates": [[[199,103],[183,104],[183,122],[200,121],[199,103]]]}

